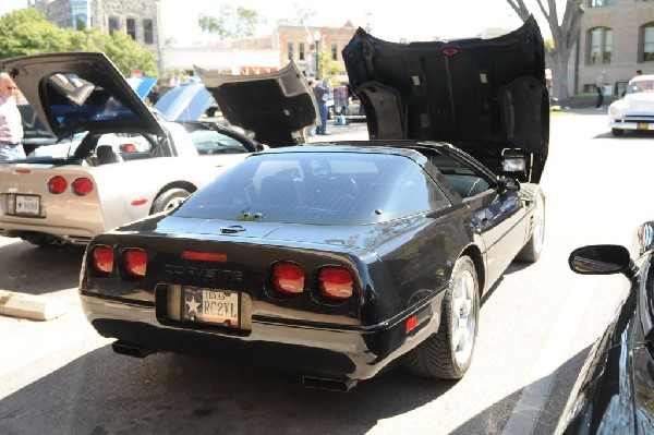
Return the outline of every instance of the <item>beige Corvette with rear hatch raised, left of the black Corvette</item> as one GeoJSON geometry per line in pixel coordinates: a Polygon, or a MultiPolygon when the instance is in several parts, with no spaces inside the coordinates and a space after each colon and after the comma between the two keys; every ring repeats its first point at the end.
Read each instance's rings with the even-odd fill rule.
{"type": "MultiPolygon", "coordinates": [[[[86,244],[111,228],[173,208],[263,149],[215,123],[169,121],[142,101],[102,53],[26,56],[0,67],[55,140],[25,159],[0,165],[0,235],[39,246],[86,244]],[[60,142],[66,137],[76,140],[60,142]]],[[[186,88],[180,90],[193,90],[186,88]]],[[[193,99],[181,100],[177,111],[190,112],[193,99]]]]}

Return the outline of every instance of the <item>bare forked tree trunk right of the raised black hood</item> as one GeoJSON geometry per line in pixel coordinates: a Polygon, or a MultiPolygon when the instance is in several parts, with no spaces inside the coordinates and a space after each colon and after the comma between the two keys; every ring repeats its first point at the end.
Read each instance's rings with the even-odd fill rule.
{"type": "MultiPolygon", "coordinates": [[[[554,44],[546,45],[545,57],[552,69],[552,92],[559,99],[568,98],[568,61],[579,38],[579,28],[583,16],[581,0],[565,1],[566,10],[559,23],[557,0],[547,0],[547,8],[543,0],[535,0],[552,32],[554,44]]],[[[523,0],[507,0],[507,2],[522,21],[526,21],[532,14],[523,0]]]]}

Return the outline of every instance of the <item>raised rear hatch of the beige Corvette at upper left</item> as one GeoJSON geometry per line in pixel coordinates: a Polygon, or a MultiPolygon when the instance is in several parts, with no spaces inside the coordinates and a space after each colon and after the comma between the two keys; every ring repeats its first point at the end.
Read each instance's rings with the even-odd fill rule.
{"type": "Polygon", "coordinates": [[[150,110],[99,52],[23,56],[0,62],[57,138],[89,130],[164,134],[150,110]]]}

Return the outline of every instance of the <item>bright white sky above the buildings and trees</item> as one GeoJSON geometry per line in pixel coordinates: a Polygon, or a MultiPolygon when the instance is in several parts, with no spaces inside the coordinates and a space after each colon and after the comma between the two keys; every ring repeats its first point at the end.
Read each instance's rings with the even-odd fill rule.
{"type": "MultiPolygon", "coordinates": [[[[160,2],[164,37],[174,38],[180,44],[201,40],[198,14],[217,16],[219,4],[222,3],[216,0],[160,2]]],[[[506,0],[355,0],[322,3],[306,0],[231,0],[226,3],[234,9],[244,7],[258,12],[266,21],[257,32],[261,35],[269,33],[277,20],[293,19],[295,4],[316,12],[310,25],[340,27],[350,20],[354,26],[365,27],[370,24],[373,35],[389,41],[399,41],[400,38],[431,40],[434,36],[441,39],[474,37],[486,28],[514,29],[521,24],[506,0]]],[[[25,8],[26,4],[26,0],[0,0],[0,15],[25,8]]],[[[537,9],[530,7],[540,16],[537,9]]],[[[562,16],[562,10],[559,15],[562,16]]],[[[541,29],[546,33],[543,24],[541,29]]]]}

